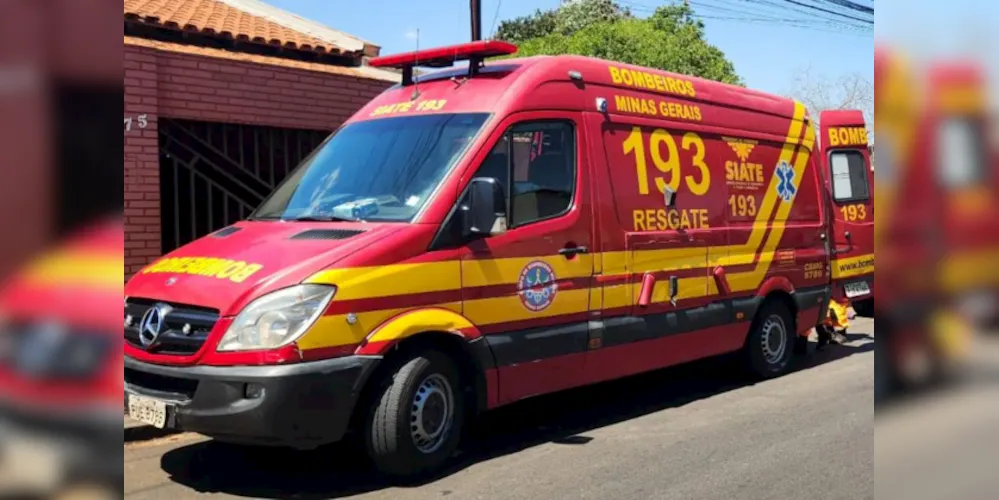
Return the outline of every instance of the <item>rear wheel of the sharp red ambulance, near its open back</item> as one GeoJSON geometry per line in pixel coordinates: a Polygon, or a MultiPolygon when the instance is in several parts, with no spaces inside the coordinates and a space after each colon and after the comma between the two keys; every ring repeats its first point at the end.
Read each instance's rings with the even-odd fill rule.
{"type": "Polygon", "coordinates": [[[760,379],[787,373],[797,344],[795,331],[794,318],[783,302],[764,303],[746,340],[744,358],[749,373],[760,379]]]}

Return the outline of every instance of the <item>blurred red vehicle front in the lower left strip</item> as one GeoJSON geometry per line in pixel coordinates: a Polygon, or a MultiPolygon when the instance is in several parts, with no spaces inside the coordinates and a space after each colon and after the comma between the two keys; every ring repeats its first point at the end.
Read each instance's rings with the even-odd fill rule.
{"type": "Polygon", "coordinates": [[[32,481],[53,481],[25,484],[45,488],[32,494],[80,481],[120,490],[108,457],[120,453],[123,229],[87,228],[0,290],[0,448],[5,470],[29,463],[32,481]]]}

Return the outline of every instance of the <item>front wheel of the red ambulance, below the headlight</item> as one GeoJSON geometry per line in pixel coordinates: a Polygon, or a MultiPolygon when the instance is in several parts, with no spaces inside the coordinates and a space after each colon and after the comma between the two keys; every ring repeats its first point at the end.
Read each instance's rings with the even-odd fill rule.
{"type": "Polygon", "coordinates": [[[440,469],[458,448],[465,423],[458,369],[437,351],[417,353],[380,381],[364,441],[375,467],[414,479],[440,469]]]}

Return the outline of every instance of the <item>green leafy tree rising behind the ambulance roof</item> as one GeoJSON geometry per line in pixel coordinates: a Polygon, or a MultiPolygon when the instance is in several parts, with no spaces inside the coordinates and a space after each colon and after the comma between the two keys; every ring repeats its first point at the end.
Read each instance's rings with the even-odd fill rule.
{"type": "Polygon", "coordinates": [[[516,57],[574,54],[743,84],[732,62],[705,39],[704,23],[685,5],[660,7],[647,19],[604,19],[569,33],[556,28],[515,43],[520,47],[516,57]]]}

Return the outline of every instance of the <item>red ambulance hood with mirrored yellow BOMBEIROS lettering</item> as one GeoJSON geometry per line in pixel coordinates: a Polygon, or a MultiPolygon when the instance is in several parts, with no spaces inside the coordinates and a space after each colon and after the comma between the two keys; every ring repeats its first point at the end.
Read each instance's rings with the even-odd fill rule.
{"type": "Polygon", "coordinates": [[[397,224],[241,222],[189,243],[137,273],[125,296],[231,316],[257,297],[405,233],[397,224]]]}

